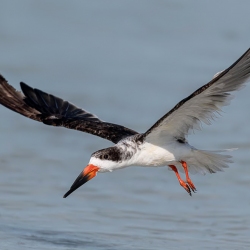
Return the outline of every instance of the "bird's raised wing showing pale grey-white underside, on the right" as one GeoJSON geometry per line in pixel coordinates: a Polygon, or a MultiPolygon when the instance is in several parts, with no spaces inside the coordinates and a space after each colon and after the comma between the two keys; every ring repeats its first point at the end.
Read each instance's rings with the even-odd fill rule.
{"type": "Polygon", "coordinates": [[[232,99],[230,92],[239,90],[250,77],[250,49],[228,69],[219,72],[206,85],[180,101],[158,120],[142,138],[157,143],[164,136],[184,139],[190,129],[200,128],[201,121],[210,121],[222,106],[232,99]]]}

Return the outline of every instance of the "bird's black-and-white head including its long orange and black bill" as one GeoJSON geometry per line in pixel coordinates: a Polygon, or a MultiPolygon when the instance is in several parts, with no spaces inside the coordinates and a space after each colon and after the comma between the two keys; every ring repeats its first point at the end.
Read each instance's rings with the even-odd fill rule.
{"type": "Polygon", "coordinates": [[[69,191],[63,196],[66,198],[87,181],[94,178],[97,172],[112,171],[121,160],[121,154],[118,148],[110,147],[96,151],[92,154],[89,164],[78,175],[69,191]]]}

